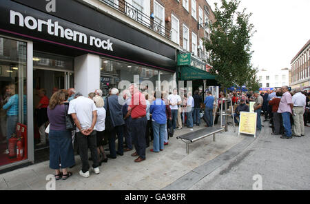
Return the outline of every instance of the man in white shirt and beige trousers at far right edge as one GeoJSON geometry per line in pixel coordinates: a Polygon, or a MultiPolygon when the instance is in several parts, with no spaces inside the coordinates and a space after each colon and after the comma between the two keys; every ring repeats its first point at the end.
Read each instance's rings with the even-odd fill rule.
{"type": "Polygon", "coordinates": [[[293,101],[293,136],[304,136],[304,109],[306,108],[306,96],[301,88],[295,89],[293,101]]]}

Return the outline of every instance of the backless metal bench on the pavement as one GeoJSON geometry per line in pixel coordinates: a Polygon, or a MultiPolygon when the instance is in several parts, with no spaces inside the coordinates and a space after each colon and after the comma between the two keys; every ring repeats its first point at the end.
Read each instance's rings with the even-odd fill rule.
{"type": "Polygon", "coordinates": [[[195,132],[189,132],[187,134],[183,134],[181,136],[177,136],[176,139],[181,139],[183,142],[186,143],[186,153],[189,154],[189,144],[194,143],[194,141],[198,141],[203,139],[207,136],[213,134],[213,141],[216,141],[216,133],[225,131],[225,128],[203,128],[201,130],[195,132]]]}

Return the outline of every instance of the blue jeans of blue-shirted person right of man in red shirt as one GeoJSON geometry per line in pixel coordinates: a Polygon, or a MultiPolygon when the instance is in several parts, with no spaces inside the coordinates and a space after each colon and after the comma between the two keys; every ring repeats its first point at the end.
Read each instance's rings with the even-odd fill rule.
{"type": "Polygon", "coordinates": [[[155,121],[153,123],[153,132],[154,132],[154,141],[153,141],[153,150],[154,152],[159,152],[164,148],[164,139],[166,134],[166,124],[159,124],[155,121]]]}

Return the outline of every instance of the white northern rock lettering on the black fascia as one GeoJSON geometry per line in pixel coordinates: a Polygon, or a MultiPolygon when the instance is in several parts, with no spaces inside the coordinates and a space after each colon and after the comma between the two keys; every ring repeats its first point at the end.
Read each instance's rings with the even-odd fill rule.
{"type": "MultiPolygon", "coordinates": [[[[10,10],[10,23],[15,25],[17,23],[20,27],[26,27],[30,30],[37,30],[42,32],[43,28],[47,28],[48,34],[54,35],[55,37],[61,37],[68,39],[70,41],[79,41],[79,43],[87,44],[87,35],[76,30],[71,30],[70,28],[63,28],[59,25],[58,21],[52,22],[52,19],[48,21],[43,21],[41,19],[35,19],[34,17],[23,17],[23,14],[10,10]]],[[[97,48],[103,48],[103,50],[110,50],[113,52],[113,43],[110,39],[102,40],[96,37],[90,36],[89,44],[91,46],[95,45],[97,48]]]]}

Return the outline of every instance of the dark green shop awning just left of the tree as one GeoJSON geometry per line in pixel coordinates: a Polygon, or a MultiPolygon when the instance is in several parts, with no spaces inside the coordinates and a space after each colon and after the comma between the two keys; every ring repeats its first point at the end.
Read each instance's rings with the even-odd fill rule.
{"type": "Polygon", "coordinates": [[[181,66],[180,68],[180,80],[181,81],[193,81],[193,80],[207,80],[207,85],[218,85],[216,81],[216,76],[194,68],[189,65],[181,66]]]}

